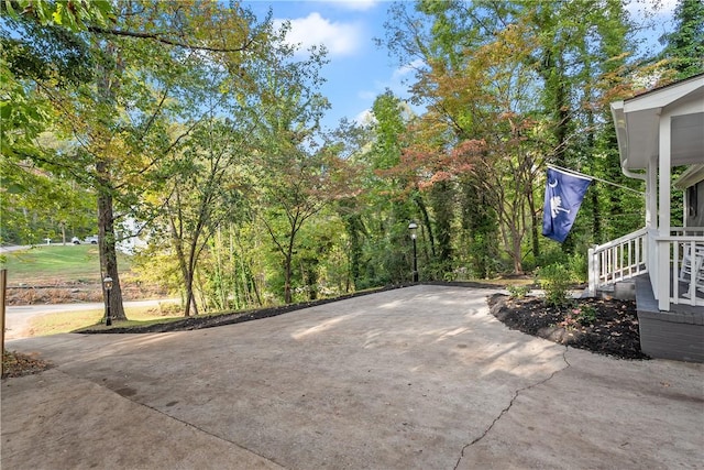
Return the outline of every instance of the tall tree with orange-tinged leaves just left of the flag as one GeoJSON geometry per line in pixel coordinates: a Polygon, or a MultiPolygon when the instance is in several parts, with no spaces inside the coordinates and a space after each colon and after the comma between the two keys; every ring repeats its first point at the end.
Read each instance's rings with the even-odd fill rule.
{"type": "Polygon", "coordinates": [[[544,164],[591,162],[605,94],[627,72],[632,30],[622,2],[396,3],[387,31],[392,54],[418,64],[414,100],[427,106],[421,122],[435,127],[439,147],[483,142],[475,177],[462,179],[477,190],[460,200],[488,196],[474,206],[492,206],[505,252],[520,272],[527,250],[540,255],[544,164]]]}

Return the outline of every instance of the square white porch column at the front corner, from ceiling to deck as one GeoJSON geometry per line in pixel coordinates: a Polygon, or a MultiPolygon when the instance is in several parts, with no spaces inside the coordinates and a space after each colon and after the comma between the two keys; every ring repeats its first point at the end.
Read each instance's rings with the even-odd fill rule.
{"type": "MultiPolygon", "coordinates": [[[[671,116],[660,116],[660,145],[658,171],[658,236],[670,237],[670,149],[671,149],[671,116]]],[[[658,281],[656,298],[660,310],[670,309],[670,244],[660,242],[657,247],[658,281]]]]}

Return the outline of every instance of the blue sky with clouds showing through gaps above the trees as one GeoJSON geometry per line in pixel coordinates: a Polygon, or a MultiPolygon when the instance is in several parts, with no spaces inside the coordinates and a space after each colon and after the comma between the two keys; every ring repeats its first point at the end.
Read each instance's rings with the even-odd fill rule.
{"type": "MultiPolygon", "coordinates": [[[[263,19],[271,8],[276,22],[288,20],[292,31],[287,40],[300,43],[305,51],[314,44],[324,44],[329,63],[322,68],[327,81],[321,92],[332,108],[326,113],[323,127],[337,127],[342,118],[362,120],[369,114],[374,99],[391,89],[406,98],[411,69],[402,67],[385,48],[374,44],[384,39],[384,22],[391,1],[380,0],[308,0],[308,1],[244,1],[257,18],[263,19]]],[[[627,7],[636,21],[644,11],[659,6],[653,26],[640,34],[653,46],[657,37],[672,28],[672,11],[676,0],[630,0],[627,7]]]]}

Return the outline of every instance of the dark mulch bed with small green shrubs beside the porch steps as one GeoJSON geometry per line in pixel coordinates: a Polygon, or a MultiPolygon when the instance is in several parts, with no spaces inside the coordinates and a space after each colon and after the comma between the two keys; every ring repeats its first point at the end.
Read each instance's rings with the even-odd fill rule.
{"type": "Polygon", "coordinates": [[[542,298],[488,298],[491,313],[510,329],[573,348],[620,359],[649,359],[640,350],[632,300],[579,298],[569,306],[547,306],[542,298]]]}

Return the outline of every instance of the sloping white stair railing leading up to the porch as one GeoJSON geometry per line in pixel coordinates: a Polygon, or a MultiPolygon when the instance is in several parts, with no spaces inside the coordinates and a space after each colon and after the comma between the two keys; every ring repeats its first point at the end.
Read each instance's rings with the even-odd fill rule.
{"type": "Polygon", "coordinates": [[[640,229],[588,251],[590,294],[648,272],[648,231],[640,229]]]}

